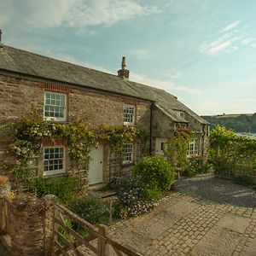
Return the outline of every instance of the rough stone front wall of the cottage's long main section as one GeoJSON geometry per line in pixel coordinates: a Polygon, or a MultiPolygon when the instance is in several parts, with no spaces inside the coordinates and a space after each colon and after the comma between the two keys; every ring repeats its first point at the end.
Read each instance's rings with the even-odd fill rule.
{"type": "MultiPolygon", "coordinates": [[[[123,125],[124,103],[131,103],[136,105],[135,125],[148,134],[150,132],[150,102],[89,90],[82,86],[55,83],[46,79],[36,79],[18,74],[10,75],[3,72],[0,73],[0,127],[20,118],[22,114],[30,113],[32,105],[38,109],[38,113],[43,119],[44,90],[60,91],[67,95],[67,121],[74,118],[82,119],[94,128],[99,125],[123,125]]],[[[15,163],[15,160],[6,154],[8,144],[9,137],[0,143],[0,160],[9,160],[9,163],[15,163]]],[[[149,143],[147,147],[149,148],[149,143]]],[[[137,152],[135,154],[135,159],[137,159],[137,152]]],[[[43,151],[38,154],[34,163],[37,163],[37,166],[34,164],[33,169],[39,176],[42,176],[43,151]]],[[[108,161],[104,161],[104,164],[106,164],[104,169],[109,170],[108,161]]],[[[73,166],[76,166],[75,163],[67,156],[68,172],[74,172],[73,166]]]]}

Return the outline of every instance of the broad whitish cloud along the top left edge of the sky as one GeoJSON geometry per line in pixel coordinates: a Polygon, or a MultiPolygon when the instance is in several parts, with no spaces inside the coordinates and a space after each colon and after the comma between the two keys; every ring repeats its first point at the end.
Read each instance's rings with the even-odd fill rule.
{"type": "MultiPolygon", "coordinates": [[[[135,0],[23,0],[22,3],[12,3],[12,8],[16,11],[12,19],[18,17],[28,28],[42,29],[112,26],[120,20],[162,12],[156,6],[143,5],[135,0]]],[[[3,9],[4,13],[8,12],[3,9]]],[[[0,10],[2,19],[3,14],[0,10]]]]}

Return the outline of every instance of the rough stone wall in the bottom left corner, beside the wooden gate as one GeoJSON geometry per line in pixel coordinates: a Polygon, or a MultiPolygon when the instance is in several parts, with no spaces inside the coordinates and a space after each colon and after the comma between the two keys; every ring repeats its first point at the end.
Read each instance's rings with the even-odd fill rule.
{"type": "Polygon", "coordinates": [[[31,195],[20,195],[10,200],[9,188],[8,179],[0,177],[1,241],[12,255],[49,255],[55,196],[47,195],[40,200],[31,195]],[[8,216],[3,216],[6,213],[8,216]]]}

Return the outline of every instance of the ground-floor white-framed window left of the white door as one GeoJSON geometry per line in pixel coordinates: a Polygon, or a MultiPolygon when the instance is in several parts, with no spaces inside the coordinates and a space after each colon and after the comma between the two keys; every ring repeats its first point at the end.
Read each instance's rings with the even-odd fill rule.
{"type": "Polygon", "coordinates": [[[44,148],[44,176],[65,172],[65,148],[44,148]]]}

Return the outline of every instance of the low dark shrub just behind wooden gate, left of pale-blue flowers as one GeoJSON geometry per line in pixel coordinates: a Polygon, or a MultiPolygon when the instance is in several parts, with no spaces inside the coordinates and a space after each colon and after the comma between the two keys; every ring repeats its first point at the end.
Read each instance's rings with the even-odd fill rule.
{"type": "Polygon", "coordinates": [[[91,224],[107,224],[109,208],[99,199],[84,196],[70,201],[68,208],[91,224]]]}

